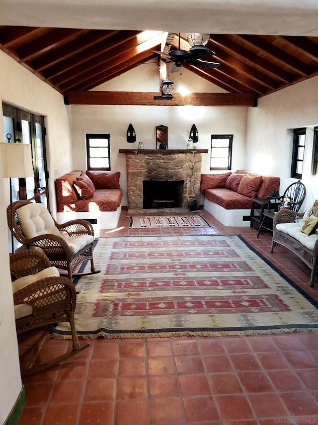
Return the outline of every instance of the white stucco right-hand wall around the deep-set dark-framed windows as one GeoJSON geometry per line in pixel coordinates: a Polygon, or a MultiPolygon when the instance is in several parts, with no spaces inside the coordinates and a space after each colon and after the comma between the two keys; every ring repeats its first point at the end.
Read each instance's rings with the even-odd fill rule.
{"type": "Polygon", "coordinates": [[[249,108],[246,129],[247,169],[291,182],[293,130],[306,127],[302,181],[307,188],[304,207],[318,199],[318,176],[311,177],[313,127],[318,126],[318,77],[280,90],[249,108]]]}

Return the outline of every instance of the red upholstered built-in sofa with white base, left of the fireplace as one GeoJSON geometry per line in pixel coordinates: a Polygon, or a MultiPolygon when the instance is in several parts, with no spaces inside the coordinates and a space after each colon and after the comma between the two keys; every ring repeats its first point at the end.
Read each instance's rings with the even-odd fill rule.
{"type": "Polygon", "coordinates": [[[57,221],[83,218],[100,229],[114,229],[120,217],[120,172],[71,171],[55,180],[57,221]]]}

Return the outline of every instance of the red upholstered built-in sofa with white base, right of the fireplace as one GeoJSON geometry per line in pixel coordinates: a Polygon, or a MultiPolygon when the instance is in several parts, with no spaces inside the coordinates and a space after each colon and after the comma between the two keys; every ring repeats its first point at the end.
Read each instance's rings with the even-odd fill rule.
{"type": "Polygon", "coordinates": [[[253,198],[279,191],[280,178],[246,170],[201,174],[204,209],[225,226],[249,226],[253,198]]]}

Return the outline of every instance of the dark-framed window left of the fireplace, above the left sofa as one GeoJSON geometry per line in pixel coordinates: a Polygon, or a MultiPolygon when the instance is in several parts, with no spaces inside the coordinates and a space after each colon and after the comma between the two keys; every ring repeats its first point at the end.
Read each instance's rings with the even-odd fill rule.
{"type": "Polygon", "coordinates": [[[86,135],[88,170],[110,170],[109,135],[86,135]]]}

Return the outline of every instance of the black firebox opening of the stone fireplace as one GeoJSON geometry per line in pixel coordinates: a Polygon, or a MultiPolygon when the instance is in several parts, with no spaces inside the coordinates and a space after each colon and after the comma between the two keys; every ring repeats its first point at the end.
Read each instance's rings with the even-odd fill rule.
{"type": "Polygon", "coordinates": [[[144,180],[143,207],[174,208],[182,206],[184,180],[144,180]]]}

